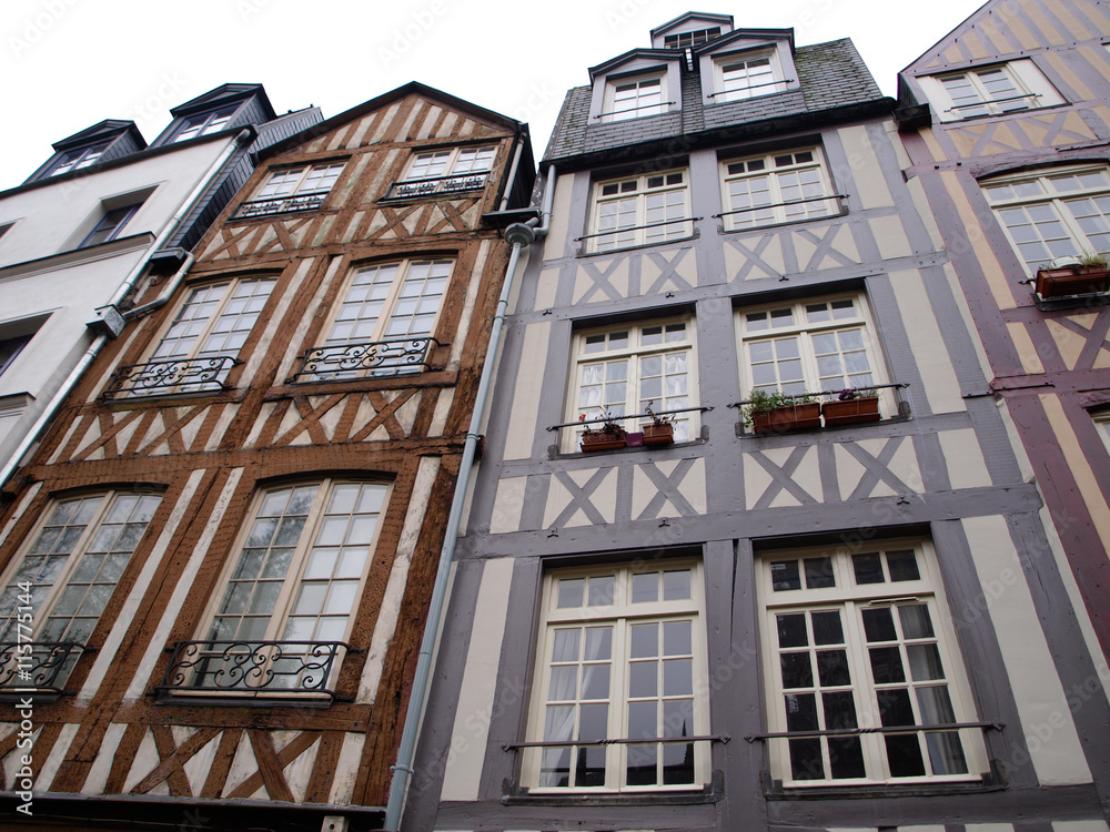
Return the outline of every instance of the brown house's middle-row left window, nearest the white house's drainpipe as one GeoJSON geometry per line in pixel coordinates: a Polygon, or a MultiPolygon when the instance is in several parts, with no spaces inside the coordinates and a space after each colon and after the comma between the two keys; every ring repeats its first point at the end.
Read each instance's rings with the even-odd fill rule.
{"type": "Polygon", "coordinates": [[[162,325],[157,343],[145,359],[137,366],[137,374],[129,378],[134,388],[125,396],[169,395],[220,389],[231,366],[224,366],[203,382],[188,381],[164,384],[167,363],[195,363],[204,359],[234,359],[259,323],[262,311],[278,285],[275,277],[235,277],[193,285],[176,306],[173,316],[162,325]],[[214,296],[213,293],[220,291],[214,296]],[[205,308],[206,307],[206,308],[205,308]],[[189,339],[188,349],[178,345],[189,339]],[[145,368],[144,368],[145,367],[145,368]]]}

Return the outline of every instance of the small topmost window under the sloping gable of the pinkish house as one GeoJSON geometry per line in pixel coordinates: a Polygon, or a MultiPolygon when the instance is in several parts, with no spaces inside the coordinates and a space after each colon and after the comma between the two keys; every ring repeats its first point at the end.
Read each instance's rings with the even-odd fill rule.
{"type": "Polygon", "coordinates": [[[941,121],[1002,115],[1063,103],[1063,98],[1030,60],[919,79],[941,121]]]}

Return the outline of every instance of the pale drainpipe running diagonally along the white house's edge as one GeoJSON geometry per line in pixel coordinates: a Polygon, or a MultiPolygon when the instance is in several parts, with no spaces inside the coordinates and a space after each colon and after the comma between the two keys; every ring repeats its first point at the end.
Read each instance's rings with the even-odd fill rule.
{"type": "MultiPolygon", "coordinates": [[[[131,290],[134,288],[134,286],[139,283],[139,278],[142,277],[143,272],[147,271],[147,264],[150,263],[150,258],[154,255],[157,251],[159,251],[163,245],[165,245],[167,241],[170,240],[170,237],[173,236],[174,232],[178,230],[181,223],[184,222],[185,217],[189,216],[189,213],[193,210],[193,207],[195,207],[196,203],[200,202],[200,199],[204,195],[204,192],[209,189],[209,185],[212,184],[212,180],[216,176],[218,173],[220,173],[221,170],[223,170],[223,166],[228,163],[228,160],[230,160],[231,156],[240,149],[243,142],[250,139],[252,135],[254,135],[254,131],[244,128],[239,132],[238,135],[235,135],[231,144],[229,144],[226,148],[223,149],[223,151],[220,153],[216,160],[209,166],[208,171],[204,173],[204,176],[201,179],[201,181],[196,183],[196,186],[190,192],[189,196],[185,197],[185,201],[181,203],[181,207],[179,207],[176,212],[174,212],[173,216],[170,217],[170,222],[167,223],[165,227],[162,229],[161,233],[157,237],[154,237],[154,242],[151,243],[150,247],[147,248],[147,253],[139,260],[138,263],[135,263],[134,267],[128,273],[128,276],[124,278],[123,283],[120,284],[119,290],[117,290],[115,294],[112,295],[112,298],[108,302],[105,306],[102,306],[99,310],[97,310],[97,312],[101,312],[102,310],[108,310],[109,316],[115,317],[118,321],[122,318],[122,315],[120,315],[118,307],[120,303],[122,303],[123,298],[128,296],[128,293],[131,292],[131,290]]],[[[190,257],[192,255],[190,255],[190,257]]],[[[191,262],[192,261],[186,257],[185,260],[186,266],[191,262]]],[[[181,270],[179,270],[179,273],[180,271],[181,270]]],[[[174,277],[176,278],[176,275],[174,275],[174,277]]],[[[165,301],[169,300],[169,297],[160,300],[162,301],[162,303],[159,305],[162,305],[165,303],[165,301]]],[[[149,305],[151,304],[148,304],[148,306],[149,305]]],[[[98,319],[95,324],[103,325],[103,318],[98,319]]],[[[122,321],[120,321],[119,325],[120,327],[122,327],[122,321]]],[[[16,470],[19,468],[22,458],[31,449],[34,443],[39,440],[39,437],[42,436],[42,434],[46,432],[47,426],[50,424],[50,420],[54,417],[54,414],[58,412],[58,408],[61,407],[62,402],[65,400],[65,397],[69,396],[69,394],[77,386],[77,383],[81,379],[81,375],[85,372],[85,369],[89,368],[89,365],[92,364],[93,359],[100,354],[100,351],[104,348],[104,344],[107,344],[109,339],[112,337],[114,337],[114,335],[111,335],[110,332],[102,332],[93,339],[92,344],[89,345],[89,348],[84,351],[84,355],[82,355],[81,358],[78,361],[77,366],[73,367],[72,372],[70,372],[70,374],[65,377],[65,381],[62,382],[62,386],[59,387],[58,390],[54,393],[53,397],[47,404],[46,408],[42,410],[41,414],[39,414],[39,418],[36,419],[34,425],[32,425],[31,429],[27,433],[27,436],[23,437],[22,442],[20,442],[19,446],[12,453],[11,457],[8,459],[7,463],[4,463],[3,468],[0,469],[0,488],[3,488],[4,485],[7,485],[8,480],[11,478],[11,475],[14,474],[16,470]]]]}

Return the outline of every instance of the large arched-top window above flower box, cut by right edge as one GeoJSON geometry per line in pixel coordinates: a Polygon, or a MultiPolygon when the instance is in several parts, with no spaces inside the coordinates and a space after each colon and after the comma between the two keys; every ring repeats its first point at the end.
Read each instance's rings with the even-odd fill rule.
{"type": "Polygon", "coordinates": [[[1056,257],[1110,252],[1110,168],[1052,168],[979,186],[1030,274],[1056,257]]]}

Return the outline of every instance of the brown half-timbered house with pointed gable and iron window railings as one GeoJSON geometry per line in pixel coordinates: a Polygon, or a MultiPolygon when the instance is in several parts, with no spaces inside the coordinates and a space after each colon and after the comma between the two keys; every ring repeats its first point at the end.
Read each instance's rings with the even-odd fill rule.
{"type": "Polygon", "coordinates": [[[6,488],[0,822],[381,828],[533,165],[411,83],[272,143],[144,275],[6,488]]]}

